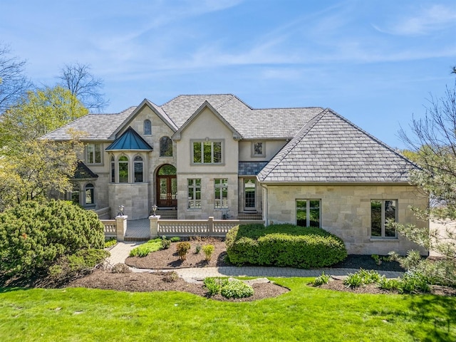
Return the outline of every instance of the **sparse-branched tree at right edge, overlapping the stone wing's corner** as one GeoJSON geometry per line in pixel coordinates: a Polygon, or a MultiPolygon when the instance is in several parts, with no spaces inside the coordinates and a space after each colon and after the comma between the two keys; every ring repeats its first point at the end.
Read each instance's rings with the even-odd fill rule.
{"type": "MultiPolygon", "coordinates": [[[[455,73],[453,68],[452,73],[455,73]]],[[[442,98],[431,95],[425,117],[413,118],[411,133],[401,128],[401,140],[414,152],[413,160],[420,169],[410,173],[413,185],[430,198],[427,208],[411,208],[423,222],[447,224],[456,220],[456,83],[447,87],[442,98]]],[[[417,227],[413,224],[391,223],[398,232],[428,250],[438,252],[442,259],[430,263],[410,252],[401,261],[408,269],[442,284],[456,285],[456,231],[417,227]]]]}

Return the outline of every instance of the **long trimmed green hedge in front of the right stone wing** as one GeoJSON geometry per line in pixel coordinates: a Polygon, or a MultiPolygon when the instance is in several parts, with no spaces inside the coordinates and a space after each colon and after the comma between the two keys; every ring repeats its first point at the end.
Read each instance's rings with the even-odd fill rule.
{"type": "Polygon", "coordinates": [[[347,257],[342,239],[316,227],[293,224],[242,224],[225,240],[229,261],[308,269],[331,266],[347,257]]]}

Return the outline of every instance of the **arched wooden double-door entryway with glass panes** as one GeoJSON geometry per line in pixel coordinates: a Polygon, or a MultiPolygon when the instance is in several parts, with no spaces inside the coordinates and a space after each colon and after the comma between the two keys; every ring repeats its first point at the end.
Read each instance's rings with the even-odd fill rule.
{"type": "Polygon", "coordinates": [[[157,170],[157,206],[177,207],[176,168],[165,164],[157,170]]]}

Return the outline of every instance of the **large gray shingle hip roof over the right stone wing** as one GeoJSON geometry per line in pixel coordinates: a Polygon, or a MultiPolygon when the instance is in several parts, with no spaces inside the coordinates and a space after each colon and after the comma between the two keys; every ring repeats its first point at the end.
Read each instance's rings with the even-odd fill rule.
{"type": "Polygon", "coordinates": [[[304,125],[266,165],[263,182],[408,182],[412,162],[332,110],[304,125]]]}

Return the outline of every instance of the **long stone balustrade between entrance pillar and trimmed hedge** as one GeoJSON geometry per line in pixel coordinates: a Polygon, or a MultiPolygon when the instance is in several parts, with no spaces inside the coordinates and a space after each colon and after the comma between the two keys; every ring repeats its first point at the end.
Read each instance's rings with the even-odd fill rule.
{"type": "Polygon", "coordinates": [[[150,216],[149,219],[151,238],[161,235],[224,237],[229,229],[238,224],[264,224],[264,221],[259,220],[214,219],[214,217],[209,217],[209,219],[160,219],[160,216],[150,216]]]}

